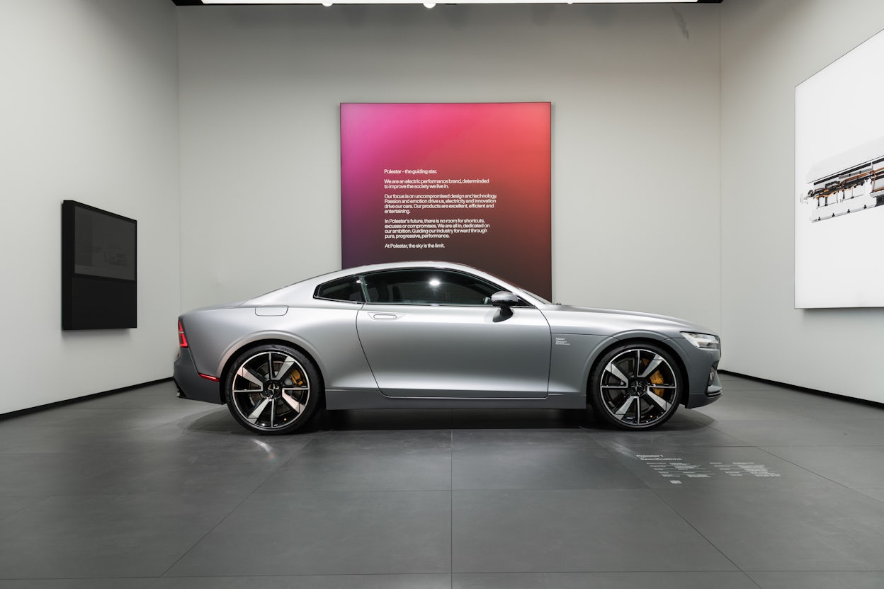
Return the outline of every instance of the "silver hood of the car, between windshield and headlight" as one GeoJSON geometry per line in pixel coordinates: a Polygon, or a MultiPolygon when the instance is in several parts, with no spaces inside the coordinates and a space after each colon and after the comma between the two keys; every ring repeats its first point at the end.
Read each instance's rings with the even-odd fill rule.
{"type": "Polygon", "coordinates": [[[697,323],[653,313],[570,305],[547,306],[543,313],[552,332],[560,334],[617,336],[636,331],[655,331],[670,337],[681,337],[680,332],[691,331],[717,335],[697,323]]]}

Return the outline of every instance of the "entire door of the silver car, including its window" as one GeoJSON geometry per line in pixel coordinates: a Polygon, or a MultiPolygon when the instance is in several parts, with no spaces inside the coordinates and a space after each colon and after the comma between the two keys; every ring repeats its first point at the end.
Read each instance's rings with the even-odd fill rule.
{"type": "Polygon", "coordinates": [[[492,306],[498,285],[453,270],[390,270],[363,279],[367,302],[356,328],[386,396],[546,396],[550,328],[533,306],[492,306]]]}

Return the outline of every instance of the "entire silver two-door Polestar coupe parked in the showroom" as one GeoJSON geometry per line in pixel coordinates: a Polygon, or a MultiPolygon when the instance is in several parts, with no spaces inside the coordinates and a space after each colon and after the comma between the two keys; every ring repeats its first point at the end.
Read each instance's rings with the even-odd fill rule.
{"type": "Polygon", "coordinates": [[[350,268],[179,318],[179,396],[257,434],[316,409],[590,405],[650,429],[721,395],[720,340],[693,323],[553,305],[475,268],[350,268]]]}

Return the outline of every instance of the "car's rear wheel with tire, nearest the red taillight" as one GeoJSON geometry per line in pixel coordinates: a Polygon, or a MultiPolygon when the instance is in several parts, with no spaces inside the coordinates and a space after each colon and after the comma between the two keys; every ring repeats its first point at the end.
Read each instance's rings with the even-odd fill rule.
{"type": "Polygon", "coordinates": [[[255,434],[291,434],[301,429],[321,404],[323,392],[313,362],[286,345],[244,351],[225,378],[227,408],[255,434]]]}

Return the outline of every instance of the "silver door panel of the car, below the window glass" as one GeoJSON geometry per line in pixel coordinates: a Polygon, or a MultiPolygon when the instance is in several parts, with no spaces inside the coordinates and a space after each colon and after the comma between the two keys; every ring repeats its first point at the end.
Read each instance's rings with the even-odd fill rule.
{"type": "Polygon", "coordinates": [[[366,307],[356,330],[386,396],[546,396],[550,328],[537,309],[495,322],[493,306],[366,307]]]}

